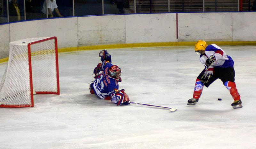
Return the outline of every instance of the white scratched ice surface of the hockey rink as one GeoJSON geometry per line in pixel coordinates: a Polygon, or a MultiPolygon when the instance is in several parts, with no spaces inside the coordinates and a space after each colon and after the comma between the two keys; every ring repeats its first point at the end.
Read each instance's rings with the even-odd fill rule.
{"type": "MultiPolygon", "coordinates": [[[[256,46],[220,47],[235,61],[243,108],[232,108],[220,80],[187,105],[204,68],[193,46],[107,49],[122,68],[119,89],[132,102],[175,112],[100,100],[88,90],[100,50],[65,52],[60,95],[34,95],[33,108],[0,108],[0,148],[256,148],[256,46]]],[[[0,64],[0,80],[6,65],[0,64]]]]}

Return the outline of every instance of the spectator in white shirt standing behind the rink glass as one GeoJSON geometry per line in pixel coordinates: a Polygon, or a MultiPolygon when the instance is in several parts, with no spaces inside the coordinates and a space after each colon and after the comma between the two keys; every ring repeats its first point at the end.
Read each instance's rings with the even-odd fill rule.
{"type": "MultiPolygon", "coordinates": [[[[47,0],[47,9],[49,18],[53,18],[54,10],[59,17],[63,17],[59,12],[56,0],[47,0]]],[[[42,12],[44,13],[44,15],[46,14],[46,0],[44,1],[42,12]]]]}

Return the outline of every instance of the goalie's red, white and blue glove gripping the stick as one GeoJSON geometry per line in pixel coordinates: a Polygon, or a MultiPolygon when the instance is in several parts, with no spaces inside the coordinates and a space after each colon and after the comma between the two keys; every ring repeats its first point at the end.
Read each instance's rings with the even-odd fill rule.
{"type": "Polygon", "coordinates": [[[120,106],[120,105],[129,105],[129,97],[128,95],[124,92],[124,89],[122,90],[117,90],[117,89],[114,89],[114,92],[112,93],[111,95],[111,101],[116,103],[117,106],[120,106]]]}

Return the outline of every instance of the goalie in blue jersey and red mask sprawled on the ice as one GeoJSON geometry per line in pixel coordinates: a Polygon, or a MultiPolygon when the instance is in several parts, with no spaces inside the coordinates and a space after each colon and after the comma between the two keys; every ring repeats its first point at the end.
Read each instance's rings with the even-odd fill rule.
{"type": "Polygon", "coordinates": [[[111,55],[107,50],[99,53],[101,63],[94,68],[95,80],[90,84],[91,94],[97,95],[100,99],[111,100],[119,105],[128,105],[129,97],[124,89],[118,90],[118,83],[122,81],[120,67],[111,64],[111,55]]]}

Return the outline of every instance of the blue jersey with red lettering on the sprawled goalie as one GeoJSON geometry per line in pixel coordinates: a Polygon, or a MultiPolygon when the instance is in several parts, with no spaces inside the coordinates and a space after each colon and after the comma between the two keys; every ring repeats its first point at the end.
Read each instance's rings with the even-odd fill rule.
{"type": "Polygon", "coordinates": [[[109,68],[113,66],[110,62],[102,62],[102,73],[93,82],[93,90],[100,99],[111,99],[114,89],[118,89],[118,81],[108,75],[109,68]]]}

